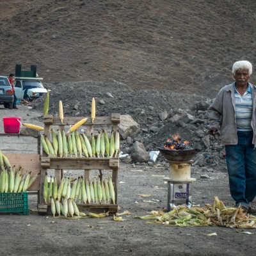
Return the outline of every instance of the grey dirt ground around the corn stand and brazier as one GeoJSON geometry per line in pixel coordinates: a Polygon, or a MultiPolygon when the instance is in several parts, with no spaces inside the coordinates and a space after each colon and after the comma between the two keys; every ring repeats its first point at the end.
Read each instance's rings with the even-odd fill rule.
{"type": "MultiPolygon", "coordinates": [[[[42,125],[41,114],[20,105],[19,109],[0,106],[0,132],[3,133],[3,116],[20,116],[26,122],[42,125]]],[[[33,139],[35,140],[35,139],[33,139]]],[[[35,141],[22,137],[1,137],[1,150],[5,153],[36,152],[35,141]]],[[[193,202],[204,206],[212,204],[218,196],[225,205],[232,206],[228,190],[227,174],[204,172],[209,179],[200,179],[202,173],[191,170],[193,202]]],[[[77,175],[75,172],[74,175],[77,175]]],[[[118,205],[120,211],[130,211],[125,221],[88,218],[86,220],[63,220],[36,213],[37,196],[29,195],[29,216],[2,214],[1,255],[248,255],[255,250],[254,236],[237,233],[223,227],[165,227],[148,225],[134,216],[144,216],[148,211],[167,206],[168,163],[148,166],[130,163],[120,164],[118,205]],[[159,177],[156,177],[157,175],[159,177]],[[151,196],[143,198],[140,194],[151,196]],[[143,200],[159,200],[147,203],[143,200]],[[216,232],[217,236],[205,234],[216,232]]],[[[252,230],[253,232],[253,230],[252,230]]],[[[255,233],[255,232],[253,232],[255,233]]]]}

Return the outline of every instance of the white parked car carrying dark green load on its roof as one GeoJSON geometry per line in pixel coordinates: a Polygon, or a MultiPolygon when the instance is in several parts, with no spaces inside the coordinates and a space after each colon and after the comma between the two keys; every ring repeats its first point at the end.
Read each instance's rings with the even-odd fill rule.
{"type": "Polygon", "coordinates": [[[14,89],[17,100],[32,101],[47,93],[40,79],[35,77],[24,77],[22,79],[15,77],[14,89]]]}

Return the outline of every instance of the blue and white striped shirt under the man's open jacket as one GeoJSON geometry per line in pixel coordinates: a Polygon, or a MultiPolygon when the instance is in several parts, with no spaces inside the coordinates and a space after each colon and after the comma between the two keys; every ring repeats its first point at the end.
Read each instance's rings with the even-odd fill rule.
{"type": "Polygon", "coordinates": [[[235,89],[237,131],[252,131],[252,90],[247,87],[243,96],[235,89]]]}

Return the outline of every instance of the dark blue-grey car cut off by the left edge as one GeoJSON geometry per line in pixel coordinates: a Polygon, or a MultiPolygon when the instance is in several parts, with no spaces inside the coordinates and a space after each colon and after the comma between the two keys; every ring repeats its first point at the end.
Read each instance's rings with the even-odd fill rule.
{"type": "Polygon", "coordinates": [[[12,86],[6,76],[0,76],[0,104],[4,105],[4,108],[13,108],[13,90],[12,86]]]}

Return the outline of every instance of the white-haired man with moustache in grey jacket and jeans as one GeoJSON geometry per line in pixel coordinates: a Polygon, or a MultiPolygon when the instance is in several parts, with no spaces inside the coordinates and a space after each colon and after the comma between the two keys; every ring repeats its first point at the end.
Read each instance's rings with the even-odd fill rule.
{"type": "Polygon", "coordinates": [[[256,213],[251,202],[256,196],[256,87],[249,83],[252,64],[236,61],[235,83],[221,88],[208,109],[210,132],[220,131],[225,145],[229,187],[236,207],[256,213]]]}

